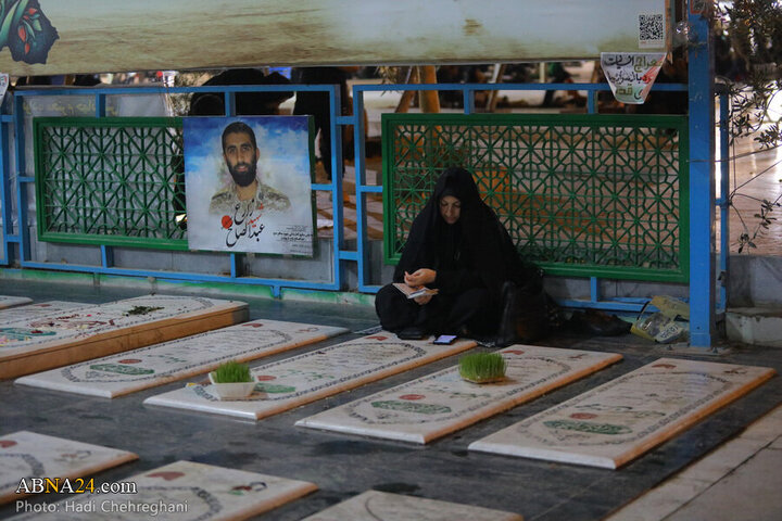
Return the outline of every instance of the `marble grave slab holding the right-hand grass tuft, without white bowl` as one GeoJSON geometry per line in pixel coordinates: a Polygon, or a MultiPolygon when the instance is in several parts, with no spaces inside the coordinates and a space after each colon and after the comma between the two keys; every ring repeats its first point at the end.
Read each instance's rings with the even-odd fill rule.
{"type": "Polygon", "coordinates": [[[454,366],[304,418],[297,425],[429,443],[621,359],[615,353],[518,344],[496,353],[507,364],[502,382],[467,382],[454,366]]]}

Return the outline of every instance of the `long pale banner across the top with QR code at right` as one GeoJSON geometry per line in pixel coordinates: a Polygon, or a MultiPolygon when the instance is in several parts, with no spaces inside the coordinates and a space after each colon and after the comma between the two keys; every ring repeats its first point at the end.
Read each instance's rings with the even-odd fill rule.
{"type": "MultiPolygon", "coordinates": [[[[667,51],[669,0],[0,0],[12,76],[667,51]]],[[[2,14],[0,14],[2,17],[2,14]]]]}

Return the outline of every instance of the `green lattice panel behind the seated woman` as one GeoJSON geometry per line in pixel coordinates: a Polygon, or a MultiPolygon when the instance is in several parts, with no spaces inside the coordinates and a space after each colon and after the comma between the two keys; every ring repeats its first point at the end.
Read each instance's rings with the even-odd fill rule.
{"type": "Polygon", "coordinates": [[[688,143],[683,116],[383,114],[386,262],[462,165],[547,274],[684,282],[688,143]]]}

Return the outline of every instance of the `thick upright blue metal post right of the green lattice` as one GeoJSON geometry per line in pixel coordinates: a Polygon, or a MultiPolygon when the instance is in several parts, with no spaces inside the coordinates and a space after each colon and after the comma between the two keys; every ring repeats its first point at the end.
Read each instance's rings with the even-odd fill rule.
{"type": "Polygon", "coordinates": [[[708,21],[694,13],[688,48],[690,101],[690,343],[710,347],[715,332],[714,75],[708,21]]]}

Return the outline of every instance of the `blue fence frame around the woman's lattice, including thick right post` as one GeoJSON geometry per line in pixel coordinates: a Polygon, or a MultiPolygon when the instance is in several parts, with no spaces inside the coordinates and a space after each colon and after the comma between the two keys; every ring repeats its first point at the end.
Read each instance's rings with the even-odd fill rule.
{"type": "MultiPolygon", "coordinates": [[[[708,27],[705,21],[695,24],[695,30],[708,27]]],[[[707,33],[706,33],[707,34],[707,33]]],[[[653,91],[688,91],[690,105],[690,305],[691,305],[691,344],[698,347],[710,347],[714,334],[715,312],[724,312],[727,295],[724,287],[720,288],[719,302],[715,302],[714,277],[714,245],[711,229],[714,221],[714,207],[717,204],[721,215],[721,245],[719,251],[719,267],[722,272],[728,269],[728,202],[724,196],[715,201],[714,177],[711,163],[714,150],[712,140],[714,116],[712,104],[714,87],[710,80],[702,81],[709,76],[709,53],[690,52],[690,82],[655,85],[653,91]],[[704,68],[705,67],[705,68],[704,68]],[[697,140],[693,138],[697,135],[697,140]],[[695,144],[695,143],[697,144],[695,144]],[[701,149],[698,149],[701,147],[701,149]]],[[[475,112],[475,92],[485,90],[585,90],[588,113],[596,113],[596,97],[600,91],[609,90],[607,84],[436,84],[436,85],[356,85],[353,87],[353,124],[355,125],[355,182],[356,182],[356,213],[358,233],[358,290],[363,292],[377,292],[379,287],[367,285],[363,267],[367,264],[367,234],[366,213],[364,212],[365,196],[368,193],[382,193],[382,187],[366,185],[366,164],[364,150],[364,122],[357,117],[364,111],[364,92],[387,90],[458,90],[464,98],[464,113],[475,112]]],[[[722,157],[728,156],[728,98],[720,96],[720,139],[722,157]]],[[[728,163],[722,162],[722,194],[728,193],[728,163]]],[[[600,279],[590,278],[589,301],[563,301],[567,307],[588,307],[597,309],[611,309],[619,312],[641,312],[646,298],[610,298],[603,300],[600,291],[600,279]]]]}

